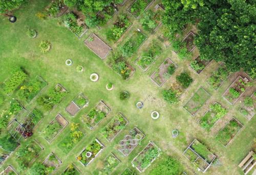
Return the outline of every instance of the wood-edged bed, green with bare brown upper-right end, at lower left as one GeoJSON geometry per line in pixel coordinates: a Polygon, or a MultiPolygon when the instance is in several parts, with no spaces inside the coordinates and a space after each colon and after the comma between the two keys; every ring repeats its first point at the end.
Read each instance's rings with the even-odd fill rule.
{"type": "Polygon", "coordinates": [[[59,133],[68,125],[68,121],[57,114],[56,117],[50,122],[50,124],[42,131],[44,138],[48,143],[51,143],[59,133]]]}

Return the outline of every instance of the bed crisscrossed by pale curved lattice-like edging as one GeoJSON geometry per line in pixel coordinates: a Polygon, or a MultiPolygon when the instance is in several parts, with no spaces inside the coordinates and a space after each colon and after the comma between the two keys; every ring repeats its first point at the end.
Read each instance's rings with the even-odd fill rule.
{"type": "Polygon", "coordinates": [[[127,157],[144,137],[145,135],[137,127],[134,127],[119,141],[117,149],[122,152],[123,156],[127,157]]]}

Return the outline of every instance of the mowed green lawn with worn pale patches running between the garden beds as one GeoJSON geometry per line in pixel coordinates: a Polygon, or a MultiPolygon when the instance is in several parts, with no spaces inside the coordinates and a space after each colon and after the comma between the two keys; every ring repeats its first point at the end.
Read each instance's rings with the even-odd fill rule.
{"type": "MultiPolygon", "coordinates": [[[[104,38],[104,30],[110,26],[106,25],[105,27],[102,27],[101,30],[96,28],[90,29],[82,38],[78,39],[69,29],[62,25],[61,17],[40,20],[35,16],[37,12],[42,11],[49,3],[50,1],[31,1],[28,6],[22,7],[14,12],[15,16],[17,16],[17,21],[14,24],[9,23],[8,18],[0,16],[0,82],[3,82],[8,78],[12,69],[18,65],[26,70],[29,78],[39,75],[46,80],[48,85],[39,93],[39,95],[47,93],[47,91],[57,83],[60,83],[69,92],[51,112],[44,112],[45,118],[42,119],[35,129],[34,135],[28,139],[35,139],[42,145],[42,147],[44,147],[44,150],[40,152],[36,162],[41,163],[46,159],[50,152],[54,152],[54,154],[62,161],[57,168],[57,171],[54,172],[55,174],[62,173],[70,163],[73,163],[83,174],[91,174],[95,169],[100,169],[104,158],[108,156],[110,152],[113,152],[121,161],[113,174],[119,174],[126,167],[135,170],[135,168],[132,167],[131,161],[148,144],[148,141],[153,141],[162,149],[164,154],[176,157],[183,164],[184,171],[188,174],[201,174],[192,163],[182,156],[182,152],[185,148],[196,138],[207,145],[209,150],[217,156],[221,164],[221,166],[212,166],[205,174],[242,174],[242,171],[238,168],[238,164],[252,148],[253,138],[256,135],[256,119],[254,117],[250,121],[247,121],[238,112],[239,102],[232,106],[223,99],[223,92],[228,88],[232,80],[234,80],[232,75],[224,81],[218,90],[212,89],[206,82],[207,78],[211,75],[212,71],[218,67],[219,63],[212,61],[203,73],[197,75],[193,70],[189,69],[191,60],[180,60],[176,54],[172,52],[172,47],[168,47],[163,50],[155,64],[153,64],[146,73],[143,73],[143,71],[137,69],[138,67],[136,68],[135,60],[138,58],[140,50],[143,50],[143,45],[146,45],[147,42],[150,42],[157,36],[157,34],[152,35],[149,32],[145,32],[148,36],[147,40],[143,43],[137,53],[127,59],[129,63],[136,68],[136,72],[129,80],[123,80],[106,64],[105,60],[102,61],[83,44],[83,41],[94,32],[99,36],[102,36],[101,38],[103,38],[103,40],[113,49],[116,49],[117,44],[108,42],[104,38]],[[35,29],[38,32],[38,36],[34,39],[29,38],[26,35],[27,29],[35,29]],[[46,54],[40,52],[38,46],[41,40],[48,40],[51,43],[52,47],[50,52],[46,54]],[[179,75],[183,71],[188,71],[194,79],[194,82],[188,87],[187,91],[182,94],[181,102],[176,105],[167,104],[163,100],[161,93],[163,89],[169,88],[174,79],[171,78],[167,80],[161,88],[150,79],[150,75],[167,57],[172,59],[178,65],[178,68],[172,77],[176,77],[176,75],[179,75]],[[65,64],[65,61],[69,58],[73,60],[73,64],[68,67],[65,64]],[[84,67],[82,73],[76,72],[77,65],[82,65],[84,67]],[[97,82],[92,82],[90,80],[90,75],[92,73],[97,73],[99,75],[99,80],[97,82]],[[113,91],[107,91],[105,89],[105,85],[108,82],[114,84],[115,88],[113,91]],[[202,104],[202,107],[200,107],[195,116],[192,117],[183,106],[194,96],[201,86],[211,96],[205,104],[202,104]],[[128,91],[131,94],[130,98],[121,101],[119,99],[119,93],[121,91],[128,91]],[[83,93],[89,99],[89,106],[80,110],[75,117],[71,117],[65,111],[65,108],[79,93],[83,93]],[[90,130],[81,121],[81,118],[87,115],[99,100],[103,100],[108,104],[111,108],[111,112],[95,127],[94,130],[90,130]],[[144,107],[141,110],[136,108],[136,102],[139,100],[144,103],[144,107]],[[214,101],[224,104],[228,114],[221,122],[218,122],[215,125],[211,132],[207,133],[201,128],[197,121],[207,111],[208,104],[211,104],[214,101]],[[160,113],[160,118],[153,120],[151,118],[152,111],[158,111],[160,113]],[[102,137],[100,130],[111,121],[111,116],[114,116],[119,112],[129,120],[129,124],[126,125],[112,142],[109,142],[102,137]],[[68,154],[62,151],[58,147],[58,144],[70,133],[70,124],[63,129],[50,144],[45,140],[41,133],[58,113],[60,113],[69,123],[80,123],[79,129],[84,135],[68,154]],[[233,116],[244,125],[244,128],[228,147],[224,147],[215,139],[215,136],[233,116]],[[123,157],[116,149],[116,145],[134,126],[137,126],[146,137],[128,157],[123,157]],[[172,138],[173,129],[178,129],[180,132],[177,138],[172,138]],[[76,160],[76,157],[94,138],[97,138],[105,148],[88,167],[84,167],[76,160]]],[[[121,12],[126,13],[126,9],[131,4],[132,1],[127,1],[123,7],[120,7],[121,9],[116,15],[121,12]]],[[[132,16],[130,17],[133,27],[141,28],[138,22],[139,20],[132,16]]],[[[112,20],[114,21],[114,19],[112,20]]],[[[112,24],[113,21],[110,21],[110,24],[112,24]]],[[[122,37],[124,39],[129,37],[129,35],[131,34],[127,31],[122,37]]],[[[4,95],[2,89],[0,90],[0,93],[4,95]]],[[[19,99],[17,94],[18,93],[14,93],[11,96],[5,95],[5,103],[7,104],[11,98],[19,99]]],[[[21,101],[21,103],[28,110],[32,110],[35,106],[38,106],[36,99],[33,99],[30,103],[27,103],[26,101],[21,101]]],[[[3,110],[3,108],[4,106],[1,107],[1,110],[3,110]]],[[[38,106],[38,108],[39,110],[42,110],[40,106],[38,106]]],[[[23,140],[22,142],[26,142],[26,140],[23,140]]],[[[12,154],[4,163],[2,169],[11,164],[19,171],[15,159],[15,154],[12,154]]],[[[153,163],[153,165],[141,174],[149,174],[152,168],[157,166],[160,159],[161,156],[153,163]]],[[[19,173],[27,174],[26,171],[19,173]]],[[[137,173],[139,172],[137,171],[137,173]]]]}

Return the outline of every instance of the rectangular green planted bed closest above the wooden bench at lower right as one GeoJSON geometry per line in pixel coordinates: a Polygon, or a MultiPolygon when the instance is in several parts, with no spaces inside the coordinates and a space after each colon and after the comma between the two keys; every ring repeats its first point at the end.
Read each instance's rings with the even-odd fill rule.
{"type": "Polygon", "coordinates": [[[217,134],[216,140],[227,147],[240,132],[243,125],[236,119],[232,118],[217,134]]]}

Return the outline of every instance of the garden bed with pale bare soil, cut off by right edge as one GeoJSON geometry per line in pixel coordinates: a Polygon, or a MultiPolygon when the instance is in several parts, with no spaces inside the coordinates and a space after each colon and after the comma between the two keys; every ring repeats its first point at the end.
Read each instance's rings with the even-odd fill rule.
{"type": "Polygon", "coordinates": [[[256,109],[256,91],[250,97],[246,97],[242,103],[239,112],[247,119],[250,120],[255,115],[256,109]]]}

